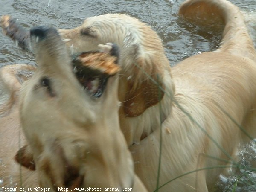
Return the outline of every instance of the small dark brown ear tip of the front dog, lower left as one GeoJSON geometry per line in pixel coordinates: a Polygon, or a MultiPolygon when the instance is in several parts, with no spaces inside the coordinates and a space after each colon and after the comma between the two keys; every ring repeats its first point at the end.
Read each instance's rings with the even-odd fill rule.
{"type": "Polygon", "coordinates": [[[20,165],[30,170],[35,170],[33,154],[30,151],[30,148],[28,145],[25,145],[22,148],[20,148],[20,150],[17,152],[14,158],[17,161],[17,163],[20,163],[20,165]]]}

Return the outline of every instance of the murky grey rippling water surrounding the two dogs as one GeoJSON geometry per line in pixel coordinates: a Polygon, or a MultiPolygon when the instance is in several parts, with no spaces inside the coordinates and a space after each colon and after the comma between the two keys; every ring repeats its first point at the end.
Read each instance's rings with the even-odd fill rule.
{"type": "MultiPolygon", "coordinates": [[[[256,1],[231,1],[247,12],[249,31],[256,45],[256,1]]],[[[128,13],[148,23],[160,35],[166,47],[170,65],[173,66],[198,52],[215,49],[218,47],[221,35],[206,29],[198,29],[177,17],[178,8],[182,2],[183,0],[0,0],[0,14],[12,15],[26,28],[52,25],[67,29],[79,26],[84,18],[93,15],[128,13]]],[[[32,56],[17,48],[2,32],[0,32],[0,42],[0,66],[14,63],[35,64],[32,56]]],[[[256,146],[250,144],[244,147],[240,157],[241,163],[249,162],[256,157],[256,146]],[[244,156],[244,154],[247,155],[244,156]]],[[[218,184],[218,188],[221,188],[219,191],[232,191],[234,188],[227,189],[227,185],[235,183],[240,178],[239,172],[234,171],[228,178],[221,177],[218,184]]],[[[255,172],[250,172],[237,183],[236,191],[256,191],[255,172]]]]}

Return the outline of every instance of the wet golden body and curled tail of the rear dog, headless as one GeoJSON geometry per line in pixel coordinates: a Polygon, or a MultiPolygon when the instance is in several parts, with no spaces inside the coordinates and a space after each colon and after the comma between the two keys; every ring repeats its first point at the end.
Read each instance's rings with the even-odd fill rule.
{"type": "Polygon", "coordinates": [[[148,180],[157,180],[159,145],[155,143],[163,130],[160,191],[207,192],[221,167],[228,167],[227,162],[237,165],[234,154],[239,143],[256,137],[256,54],[241,12],[230,2],[188,0],[180,7],[180,15],[214,25],[211,18],[218,16],[225,24],[221,46],[172,68],[172,113],[161,129],[131,151],[134,161],[140,162],[136,164],[140,178],[154,188],[156,183],[148,180]],[[144,170],[149,162],[142,161],[148,156],[153,156],[151,171],[144,170]]]}

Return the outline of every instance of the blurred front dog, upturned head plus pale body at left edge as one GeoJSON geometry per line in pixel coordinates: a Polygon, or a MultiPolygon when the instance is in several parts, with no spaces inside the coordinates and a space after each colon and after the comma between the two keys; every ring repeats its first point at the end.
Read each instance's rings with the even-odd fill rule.
{"type": "MultiPolygon", "coordinates": [[[[6,86],[2,88],[2,93],[15,93],[14,98],[9,96],[8,104],[12,105],[1,106],[1,142],[6,145],[0,151],[3,156],[1,187],[14,191],[41,186],[49,188],[49,191],[96,187],[118,191],[133,188],[133,191],[147,192],[134,175],[131,154],[119,128],[118,80],[115,75],[120,69],[116,64],[117,47],[100,45],[103,53],[78,55],[79,58],[73,59],[75,68],[72,70],[71,59],[55,29],[38,27],[32,33],[41,35],[38,40],[32,39],[36,44],[39,67],[32,79],[23,84],[20,96],[21,123],[29,145],[20,130],[15,101],[20,84],[30,78],[35,68],[17,64],[0,70],[1,85],[6,86]],[[45,37],[42,37],[43,34],[45,37]],[[90,85],[90,89],[85,89],[85,85],[90,85]],[[71,96],[69,93],[75,94],[74,89],[81,95],[71,96]],[[58,122],[62,118],[59,115],[69,116],[67,122],[58,122]],[[34,123],[36,125],[32,125],[34,123]],[[57,124],[62,124],[58,126],[58,131],[57,124]],[[22,145],[24,147],[20,148],[22,145]],[[18,151],[16,155],[15,151],[18,151]],[[15,160],[30,170],[19,167],[15,160]],[[33,172],[35,165],[37,169],[33,172]]],[[[8,99],[8,96],[5,97],[8,99]]]]}

